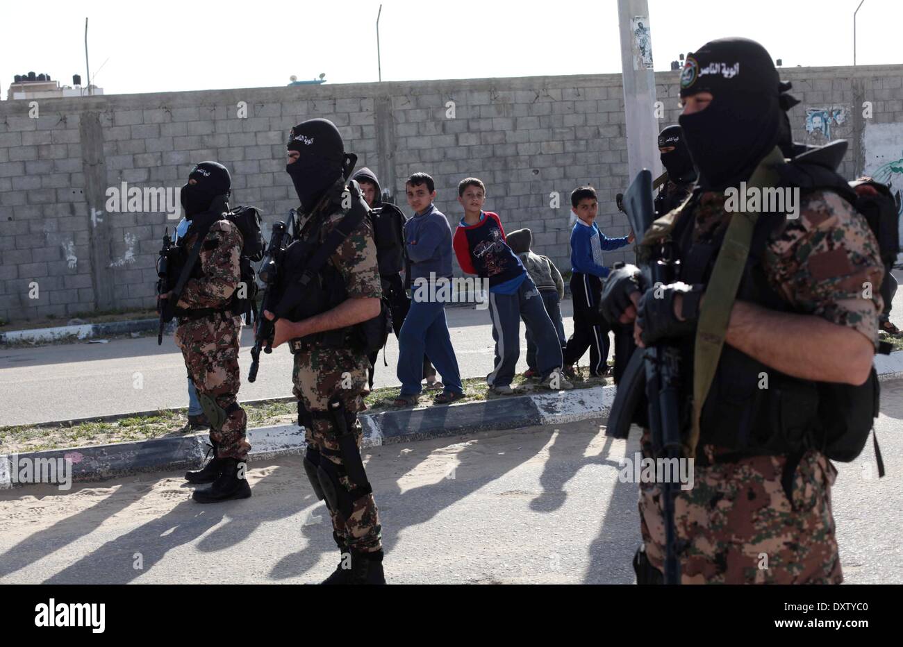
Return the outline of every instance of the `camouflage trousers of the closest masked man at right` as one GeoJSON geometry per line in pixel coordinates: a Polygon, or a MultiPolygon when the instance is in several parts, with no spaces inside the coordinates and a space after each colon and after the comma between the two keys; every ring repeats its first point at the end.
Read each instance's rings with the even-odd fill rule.
{"type": "MultiPolygon", "coordinates": [[[[713,456],[712,446],[699,454],[713,456]]],[[[651,456],[648,432],[644,457],[651,456]]],[[[796,467],[793,504],[781,485],[787,458],[757,456],[700,466],[675,498],[682,584],[840,584],[831,485],[837,470],[810,450],[796,467]]],[[[665,517],[659,485],[640,483],[647,558],[664,572],[665,517]]]]}

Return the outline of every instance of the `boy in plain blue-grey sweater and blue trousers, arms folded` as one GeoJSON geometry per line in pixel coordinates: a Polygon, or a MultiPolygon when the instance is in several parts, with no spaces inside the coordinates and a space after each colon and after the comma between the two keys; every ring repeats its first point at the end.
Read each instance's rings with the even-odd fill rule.
{"type": "MultiPolygon", "coordinates": [[[[442,212],[435,208],[436,188],[426,173],[414,173],[405,183],[407,203],[414,217],[405,223],[405,251],[410,263],[410,278],[418,282],[442,283],[452,279],[452,228],[442,212]]],[[[444,388],[433,402],[445,404],[461,400],[464,389],[452,337],[445,320],[442,300],[418,299],[417,294],[436,294],[419,290],[411,301],[405,323],[398,334],[398,380],[401,394],[395,406],[413,406],[424,379],[424,352],[442,374],[444,388]]]]}

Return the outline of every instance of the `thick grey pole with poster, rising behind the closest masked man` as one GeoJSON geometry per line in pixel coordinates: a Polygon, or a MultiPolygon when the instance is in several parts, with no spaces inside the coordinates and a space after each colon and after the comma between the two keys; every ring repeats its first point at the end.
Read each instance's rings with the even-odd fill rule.
{"type": "Polygon", "coordinates": [[[661,172],[656,149],[656,75],[652,69],[647,0],[618,0],[618,20],[629,183],[643,169],[651,171],[653,177],[661,172]]]}

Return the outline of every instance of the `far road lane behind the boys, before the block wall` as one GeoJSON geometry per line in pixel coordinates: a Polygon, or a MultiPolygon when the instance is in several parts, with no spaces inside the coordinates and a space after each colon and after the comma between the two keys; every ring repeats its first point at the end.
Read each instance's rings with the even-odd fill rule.
{"type": "MultiPolygon", "coordinates": [[[[452,345],[464,377],[485,376],[492,371],[492,325],[489,310],[449,308],[452,345]]],[[[564,332],[573,331],[571,301],[563,303],[564,332]]],[[[279,347],[261,358],[254,384],[247,382],[253,337],[245,328],[238,363],[241,366],[239,400],[292,395],[292,356],[279,347]]],[[[398,342],[390,336],[377,360],[376,387],[396,386],[398,342]]],[[[589,363],[589,354],[583,365],[589,363]]],[[[521,325],[521,358],[518,371],[526,371],[526,339],[521,325]]],[[[46,347],[0,349],[0,426],[104,416],[127,411],[188,406],[185,365],[172,340],[156,337],[114,339],[108,344],[65,344],[46,347]],[[136,388],[140,384],[141,388],[136,388]]]]}

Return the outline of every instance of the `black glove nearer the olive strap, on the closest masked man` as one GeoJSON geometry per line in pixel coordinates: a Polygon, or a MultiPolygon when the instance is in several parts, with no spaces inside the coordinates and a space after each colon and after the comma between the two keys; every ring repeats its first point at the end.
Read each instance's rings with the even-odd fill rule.
{"type": "Polygon", "coordinates": [[[687,285],[683,282],[649,288],[639,300],[637,325],[643,329],[640,339],[649,347],[660,339],[682,337],[696,329],[699,319],[699,301],[703,298],[703,285],[687,285]],[[681,316],[675,317],[675,296],[684,295],[681,316]]]}

